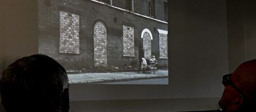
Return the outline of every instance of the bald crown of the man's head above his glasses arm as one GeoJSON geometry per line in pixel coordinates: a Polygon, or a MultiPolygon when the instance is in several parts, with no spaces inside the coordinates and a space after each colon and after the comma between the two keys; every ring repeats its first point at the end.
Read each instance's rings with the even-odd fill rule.
{"type": "Polygon", "coordinates": [[[256,100],[256,59],[242,63],[231,79],[249,99],[256,100]]]}

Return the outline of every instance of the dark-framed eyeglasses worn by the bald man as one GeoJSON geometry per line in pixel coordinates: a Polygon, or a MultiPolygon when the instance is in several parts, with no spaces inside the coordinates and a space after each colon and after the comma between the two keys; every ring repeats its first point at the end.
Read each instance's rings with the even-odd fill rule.
{"type": "Polygon", "coordinates": [[[241,90],[239,90],[238,87],[235,86],[235,84],[230,80],[230,76],[231,76],[231,74],[224,75],[224,76],[222,77],[222,84],[223,84],[224,86],[226,86],[226,85],[232,86],[237,92],[239,92],[242,96],[244,96],[244,97],[246,98],[246,96],[244,95],[244,93],[243,93],[241,90]]]}

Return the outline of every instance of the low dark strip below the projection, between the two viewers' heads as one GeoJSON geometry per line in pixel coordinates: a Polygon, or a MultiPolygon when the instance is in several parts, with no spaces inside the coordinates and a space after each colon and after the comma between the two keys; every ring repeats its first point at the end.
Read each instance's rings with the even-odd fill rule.
{"type": "Polygon", "coordinates": [[[180,112],[215,110],[219,98],[71,101],[70,112],[180,112]],[[207,102],[207,103],[206,103],[207,102]]]}

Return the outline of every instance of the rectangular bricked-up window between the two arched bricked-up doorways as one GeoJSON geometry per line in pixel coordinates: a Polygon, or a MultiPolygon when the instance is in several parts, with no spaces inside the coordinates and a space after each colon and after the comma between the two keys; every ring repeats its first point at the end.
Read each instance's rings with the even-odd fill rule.
{"type": "Polygon", "coordinates": [[[134,28],[123,25],[123,56],[135,56],[134,28]]]}

